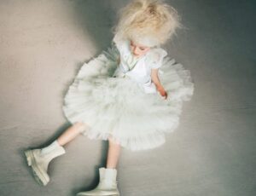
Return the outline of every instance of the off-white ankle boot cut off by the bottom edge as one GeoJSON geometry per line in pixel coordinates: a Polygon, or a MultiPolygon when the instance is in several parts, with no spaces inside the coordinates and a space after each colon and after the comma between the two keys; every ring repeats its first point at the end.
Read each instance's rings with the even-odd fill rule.
{"type": "Polygon", "coordinates": [[[100,182],[98,186],[91,190],[77,193],[77,196],[96,196],[96,195],[111,195],[119,196],[119,190],[117,187],[117,170],[100,168],[100,182]]]}

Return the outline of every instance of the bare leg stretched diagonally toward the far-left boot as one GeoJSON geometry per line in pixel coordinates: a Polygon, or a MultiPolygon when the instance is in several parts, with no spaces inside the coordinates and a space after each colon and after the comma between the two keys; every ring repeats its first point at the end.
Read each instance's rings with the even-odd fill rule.
{"type": "Polygon", "coordinates": [[[85,130],[88,126],[84,123],[78,122],[73,124],[61,136],[58,137],[57,141],[61,146],[64,146],[69,141],[73,141],[73,139],[79,135],[83,130],[85,130]]]}

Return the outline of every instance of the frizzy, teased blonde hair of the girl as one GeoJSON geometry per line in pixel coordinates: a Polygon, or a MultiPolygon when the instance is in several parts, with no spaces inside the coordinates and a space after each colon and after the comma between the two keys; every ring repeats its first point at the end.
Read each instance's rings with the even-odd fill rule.
{"type": "Polygon", "coordinates": [[[180,20],[176,9],[162,1],[133,0],[119,10],[119,22],[113,27],[113,32],[138,42],[148,37],[149,43],[160,45],[182,27],[180,20]]]}

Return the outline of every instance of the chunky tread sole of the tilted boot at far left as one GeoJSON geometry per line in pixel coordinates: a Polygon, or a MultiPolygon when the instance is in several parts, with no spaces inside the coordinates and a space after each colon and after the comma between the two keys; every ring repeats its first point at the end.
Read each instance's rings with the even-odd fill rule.
{"type": "Polygon", "coordinates": [[[33,176],[36,179],[36,181],[40,185],[47,185],[47,183],[49,182],[49,176],[45,174],[42,170],[40,170],[40,168],[38,167],[37,161],[32,153],[32,150],[26,150],[24,153],[26,156],[26,163],[28,166],[31,167],[33,176]]]}

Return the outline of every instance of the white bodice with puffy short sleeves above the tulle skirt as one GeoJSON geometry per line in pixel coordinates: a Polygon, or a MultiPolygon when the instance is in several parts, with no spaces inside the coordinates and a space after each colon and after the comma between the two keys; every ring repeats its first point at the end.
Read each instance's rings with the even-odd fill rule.
{"type": "MultiPolygon", "coordinates": [[[[160,68],[166,50],[161,48],[150,49],[145,55],[136,58],[131,54],[129,40],[113,39],[119,50],[120,63],[113,77],[129,77],[135,80],[145,93],[156,93],[154,83],[151,81],[151,69],[160,68]]],[[[162,72],[162,71],[160,71],[162,72]]]]}

